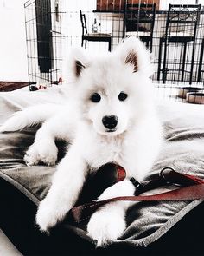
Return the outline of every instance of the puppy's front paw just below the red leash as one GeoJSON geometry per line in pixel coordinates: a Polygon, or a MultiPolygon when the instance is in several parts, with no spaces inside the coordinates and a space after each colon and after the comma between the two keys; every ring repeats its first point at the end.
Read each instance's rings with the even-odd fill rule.
{"type": "Polygon", "coordinates": [[[124,232],[125,226],[125,220],[119,213],[109,213],[108,209],[102,209],[93,213],[87,232],[96,242],[96,246],[105,246],[117,240],[124,232]]]}

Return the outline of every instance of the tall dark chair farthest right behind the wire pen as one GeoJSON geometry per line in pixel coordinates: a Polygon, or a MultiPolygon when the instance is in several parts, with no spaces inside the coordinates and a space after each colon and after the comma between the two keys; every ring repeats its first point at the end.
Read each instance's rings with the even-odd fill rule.
{"type": "MultiPolygon", "coordinates": [[[[163,83],[167,80],[167,74],[170,71],[167,67],[168,49],[170,43],[182,43],[182,69],[176,69],[182,72],[181,81],[184,81],[184,73],[189,73],[189,83],[192,83],[193,69],[194,69],[194,49],[196,29],[200,17],[201,4],[169,4],[169,11],[166,21],[165,34],[160,38],[159,44],[159,58],[158,58],[158,72],[157,80],[160,80],[160,72],[163,74],[163,83]],[[164,50],[163,50],[164,43],[164,50]],[[192,43],[192,56],[190,71],[185,70],[187,43],[192,43]],[[162,65],[162,50],[163,50],[163,68],[162,65]]],[[[181,61],[180,61],[181,62],[181,61]]],[[[175,69],[174,69],[175,72],[175,69]]]]}

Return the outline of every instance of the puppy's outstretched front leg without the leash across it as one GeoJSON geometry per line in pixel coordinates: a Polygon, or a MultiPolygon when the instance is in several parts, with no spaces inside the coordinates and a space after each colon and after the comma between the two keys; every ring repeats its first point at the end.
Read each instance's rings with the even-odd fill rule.
{"type": "Polygon", "coordinates": [[[36,223],[42,231],[48,231],[64,219],[78,199],[86,179],[86,161],[73,147],[59,164],[52,186],[38,208],[36,223]]]}

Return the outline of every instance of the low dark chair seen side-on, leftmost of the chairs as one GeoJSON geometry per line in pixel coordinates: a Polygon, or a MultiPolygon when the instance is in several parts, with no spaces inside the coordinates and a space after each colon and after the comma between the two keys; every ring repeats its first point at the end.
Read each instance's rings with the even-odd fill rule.
{"type": "Polygon", "coordinates": [[[81,36],[81,46],[84,46],[85,41],[85,48],[87,41],[92,42],[107,42],[108,43],[108,50],[111,51],[112,49],[112,36],[111,34],[105,33],[88,33],[87,25],[86,25],[86,15],[82,13],[80,10],[80,22],[82,26],[82,36],[81,36]]]}

